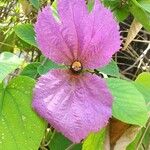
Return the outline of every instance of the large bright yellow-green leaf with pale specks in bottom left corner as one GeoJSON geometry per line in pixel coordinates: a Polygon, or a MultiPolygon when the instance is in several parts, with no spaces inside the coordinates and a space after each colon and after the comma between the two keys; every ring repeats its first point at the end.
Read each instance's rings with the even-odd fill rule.
{"type": "Polygon", "coordinates": [[[5,150],[37,150],[44,135],[45,122],[31,106],[35,81],[19,76],[7,87],[0,85],[0,147],[5,150]]]}

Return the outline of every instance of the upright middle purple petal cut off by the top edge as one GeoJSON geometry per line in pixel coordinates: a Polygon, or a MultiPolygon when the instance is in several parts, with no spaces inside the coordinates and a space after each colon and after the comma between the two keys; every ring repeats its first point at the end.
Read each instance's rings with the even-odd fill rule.
{"type": "Polygon", "coordinates": [[[88,16],[85,0],[58,0],[58,13],[63,38],[76,60],[83,46],[83,29],[88,16]]]}

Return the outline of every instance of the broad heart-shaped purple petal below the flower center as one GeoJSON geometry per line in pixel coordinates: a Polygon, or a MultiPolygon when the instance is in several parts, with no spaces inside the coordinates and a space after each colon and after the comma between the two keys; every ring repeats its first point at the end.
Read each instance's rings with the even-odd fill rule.
{"type": "Polygon", "coordinates": [[[96,75],[74,77],[66,70],[52,70],[39,78],[32,105],[54,128],[78,143],[108,123],[112,96],[96,75]]]}

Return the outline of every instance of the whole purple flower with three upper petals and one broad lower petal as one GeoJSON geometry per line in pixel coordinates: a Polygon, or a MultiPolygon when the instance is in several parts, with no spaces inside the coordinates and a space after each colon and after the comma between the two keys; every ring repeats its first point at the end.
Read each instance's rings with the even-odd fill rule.
{"type": "Polygon", "coordinates": [[[84,0],[58,0],[60,21],[49,6],[38,14],[36,40],[41,52],[69,66],[41,76],[33,107],[56,130],[75,143],[105,127],[112,115],[112,95],[105,80],[88,72],[108,64],[120,48],[112,13],[95,0],[88,12],[84,0]]]}

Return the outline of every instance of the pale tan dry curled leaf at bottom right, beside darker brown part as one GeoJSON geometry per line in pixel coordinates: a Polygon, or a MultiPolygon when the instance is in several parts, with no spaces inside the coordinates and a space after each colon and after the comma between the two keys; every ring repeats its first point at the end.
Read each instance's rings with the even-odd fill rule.
{"type": "Polygon", "coordinates": [[[126,147],[136,138],[136,135],[140,131],[140,127],[131,126],[126,132],[119,138],[114,146],[114,150],[126,150],[126,147]]]}

